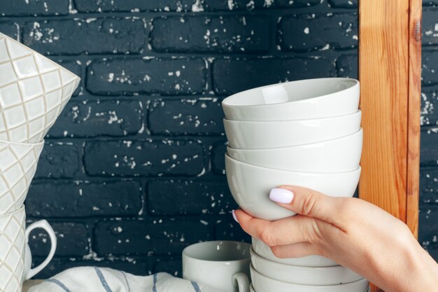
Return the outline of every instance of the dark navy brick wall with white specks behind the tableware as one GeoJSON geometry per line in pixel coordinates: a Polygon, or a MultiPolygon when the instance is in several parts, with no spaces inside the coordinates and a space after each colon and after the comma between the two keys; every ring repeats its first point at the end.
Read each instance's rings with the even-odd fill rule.
{"type": "MultiPolygon", "coordinates": [[[[229,214],[221,100],[269,83],[358,75],[355,0],[0,0],[0,8],[1,32],[82,78],[48,134],[26,202],[29,222],[48,218],[59,237],[42,278],[78,265],[181,275],[184,246],[248,240],[229,214]]],[[[434,20],[425,20],[432,30],[434,20]]],[[[437,39],[425,37],[431,128],[437,39]]],[[[421,204],[421,240],[435,254],[437,135],[423,135],[421,204]]],[[[32,235],[38,262],[49,244],[32,235]]]]}

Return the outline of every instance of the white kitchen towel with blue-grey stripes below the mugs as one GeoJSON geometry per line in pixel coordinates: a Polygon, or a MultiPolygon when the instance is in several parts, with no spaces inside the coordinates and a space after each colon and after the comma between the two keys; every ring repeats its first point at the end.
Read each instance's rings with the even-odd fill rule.
{"type": "Polygon", "coordinates": [[[160,272],[146,277],[105,267],[73,267],[29,292],[222,292],[160,272]]]}

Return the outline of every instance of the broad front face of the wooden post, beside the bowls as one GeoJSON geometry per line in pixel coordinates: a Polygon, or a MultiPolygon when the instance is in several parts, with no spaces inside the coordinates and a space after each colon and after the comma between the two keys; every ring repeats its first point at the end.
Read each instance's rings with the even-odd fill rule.
{"type": "Polygon", "coordinates": [[[364,129],[359,194],[406,221],[409,0],[359,4],[364,129]]]}

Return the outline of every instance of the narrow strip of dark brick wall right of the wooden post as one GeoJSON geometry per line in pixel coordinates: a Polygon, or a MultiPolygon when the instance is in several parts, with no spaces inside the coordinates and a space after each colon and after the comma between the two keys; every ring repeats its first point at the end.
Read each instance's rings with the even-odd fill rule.
{"type": "Polygon", "coordinates": [[[438,260],[438,1],[423,0],[419,241],[438,260]]]}

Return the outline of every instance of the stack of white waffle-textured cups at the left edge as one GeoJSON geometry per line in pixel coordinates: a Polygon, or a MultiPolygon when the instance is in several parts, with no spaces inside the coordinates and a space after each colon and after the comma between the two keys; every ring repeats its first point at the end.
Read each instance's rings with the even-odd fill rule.
{"type": "MultiPolygon", "coordinates": [[[[23,203],[43,137],[79,81],[75,74],[0,33],[0,292],[21,291],[27,277],[27,233],[44,228],[51,238],[55,235],[48,224],[26,230],[23,203]]],[[[54,247],[52,241],[51,256],[54,247]]]]}

